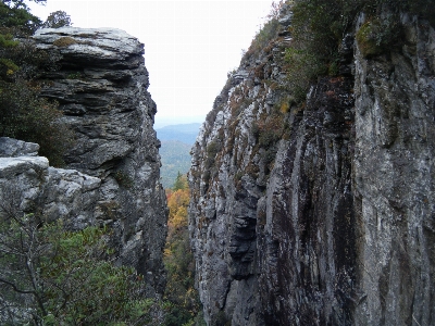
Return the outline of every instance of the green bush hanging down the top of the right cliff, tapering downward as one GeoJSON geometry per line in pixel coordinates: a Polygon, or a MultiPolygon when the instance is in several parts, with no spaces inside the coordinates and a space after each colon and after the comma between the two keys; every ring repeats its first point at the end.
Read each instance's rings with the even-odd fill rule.
{"type": "Polygon", "coordinates": [[[338,72],[338,45],[351,28],[362,0],[295,0],[293,42],[284,61],[296,103],[306,99],[319,76],[338,72]]]}

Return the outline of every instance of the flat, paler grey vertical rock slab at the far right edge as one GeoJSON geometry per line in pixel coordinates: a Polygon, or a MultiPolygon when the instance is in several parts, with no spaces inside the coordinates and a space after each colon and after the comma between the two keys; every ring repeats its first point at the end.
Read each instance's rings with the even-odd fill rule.
{"type": "Polygon", "coordinates": [[[435,323],[435,30],[401,21],[390,58],[356,49],[359,325],[435,323]]]}

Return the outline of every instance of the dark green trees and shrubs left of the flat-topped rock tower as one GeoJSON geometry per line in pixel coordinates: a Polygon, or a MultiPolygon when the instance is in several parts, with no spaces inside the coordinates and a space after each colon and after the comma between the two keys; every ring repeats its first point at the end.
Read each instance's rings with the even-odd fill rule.
{"type": "MultiPolygon", "coordinates": [[[[46,23],[54,21],[59,23],[54,16],[46,23]]],[[[23,1],[0,3],[0,137],[37,142],[39,153],[51,165],[61,166],[73,134],[62,122],[58,103],[39,97],[38,76],[57,68],[57,57],[36,49],[27,39],[41,24],[23,1]]]]}

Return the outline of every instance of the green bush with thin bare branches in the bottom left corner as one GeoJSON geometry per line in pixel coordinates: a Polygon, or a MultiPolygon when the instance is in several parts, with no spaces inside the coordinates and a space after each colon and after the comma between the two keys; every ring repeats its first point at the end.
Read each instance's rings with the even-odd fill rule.
{"type": "Polygon", "coordinates": [[[0,322],[4,325],[146,325],[142,276],[116,267],[109,230],[63,228],[0,205],[0,322]]]}

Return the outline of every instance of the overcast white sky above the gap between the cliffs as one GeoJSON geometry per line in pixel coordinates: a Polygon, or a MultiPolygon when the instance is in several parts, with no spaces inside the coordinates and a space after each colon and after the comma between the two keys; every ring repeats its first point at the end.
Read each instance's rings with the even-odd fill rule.
{"type": "Polygon", "coordinates": [[[115,27],[145,43],[156,128],[202,122],[270,12],[272,0],[47,0],[42,21],[65,11],[74,27],[115,27]]]}

